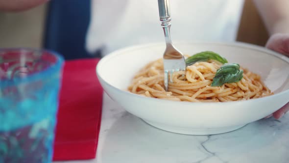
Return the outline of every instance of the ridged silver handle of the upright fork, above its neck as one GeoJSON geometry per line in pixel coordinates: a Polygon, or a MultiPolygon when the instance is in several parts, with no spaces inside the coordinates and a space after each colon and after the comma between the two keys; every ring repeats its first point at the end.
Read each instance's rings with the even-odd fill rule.
{"type": "Polygon", "coordinates": [[[162,22],[162,27],[165,33],[165,39],[167,45],[171,44],[169,28],[170,28],[170,7],[169,0],[158,0],[159,2],[159,13],[160,21],[162,22]]]}

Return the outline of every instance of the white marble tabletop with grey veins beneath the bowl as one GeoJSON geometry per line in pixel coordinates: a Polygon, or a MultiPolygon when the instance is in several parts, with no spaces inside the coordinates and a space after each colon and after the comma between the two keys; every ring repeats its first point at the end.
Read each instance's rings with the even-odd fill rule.
{"type": "Polygon", "coordinates": [[[105,94],[96,159],[65,163],[289,163],[289,115],[230,133],[188,136],[146,124],[105,94]]]}

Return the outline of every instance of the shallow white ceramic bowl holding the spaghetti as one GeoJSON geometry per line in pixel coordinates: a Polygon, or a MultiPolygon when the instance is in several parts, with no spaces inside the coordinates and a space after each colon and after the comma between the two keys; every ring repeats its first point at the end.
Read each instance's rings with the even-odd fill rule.
{"type": "Polygon", "coordinates": [[[127,91],[133,76],[161,58],[164,43],[134,46],[102,58],[96,72],[105,92],[128,112],[162,130],[188,135],[230,132],[262,119],[289,102],[289,58],[244,43],[177,43],[184,54],[214,51],[261,75],[274,95],[247,101],[192,103],[154,99],[127,91]]]}

